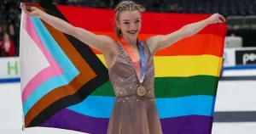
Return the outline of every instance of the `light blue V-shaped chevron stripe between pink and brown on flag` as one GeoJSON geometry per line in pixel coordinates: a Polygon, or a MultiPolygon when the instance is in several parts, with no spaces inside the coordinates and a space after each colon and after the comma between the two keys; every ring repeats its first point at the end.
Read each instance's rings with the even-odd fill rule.
{"type": "MultiPolygon", "coordinates": [[[[44,27],[44,24],[36,17],[32,17],[32,22],[38,33],[38,36],[44,43],[45,47],[52,54],[54,59],[58,64],[60,64],[62,70],[64,70],[62,75],[55,76],[48,81],[45,81],[42,85],[32,92],[32,94],[26,99],[23,104],[24,114],[26,115],[28,110],[38,102],[40,98],[43,98],[48,92],[51,92],[57,87],[67,85],[73,78],[79,74],[79,70],[75,68],[73,63],[67,58],[67,55],[61,50],[61,47],[55,42],[55,39],[50,35],[49,31],[44,27]]],[[[40,61],[38,61],[40,62],[40,61]]],[[[54,66],[52,66],[55,68],[54,66]]]]}

